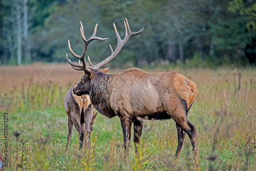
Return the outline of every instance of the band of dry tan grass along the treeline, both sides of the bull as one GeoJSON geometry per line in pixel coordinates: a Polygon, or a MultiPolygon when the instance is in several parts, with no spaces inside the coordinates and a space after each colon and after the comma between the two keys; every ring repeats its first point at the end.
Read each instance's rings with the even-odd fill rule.
{"type": "MultiPolygon", "coordinates": [[[[109,73],[118,73],[126,69],[110,69],[109,73]]],[[[234,75],[236,77],[236,84],[238,84],[238,71],[237,69],[222,68],[217,71],[210,69],[155,69],[146,70],[148,72],[179,72],[190,80],[197,83],[198,87],[201,86],[216,86],[227,82],[234,84],[234,75]]],[[[35,63],[33,65],[23,66],[1,66],[0,67],[0,92],[7,92],[13,87],[21,89],[22,84],[29,84],[38,82],[40,84],[49,81],[57,84],[60,87],[70,86],[73,83],[79,82],[83,75],[82,71],[76,71],[71,68],[69,64],[52,64],[52,63],[35,63]]],[[[241,86],[247,87],[255,86],[256,70],[243,70],[241,78],[241,86]],[[253,71],[253,72],[251,72],[253,71]],[[252,85],[251,85],[252,81],[252,85]],[[245,83],[246,82],[246,83],[245,83]]]]}

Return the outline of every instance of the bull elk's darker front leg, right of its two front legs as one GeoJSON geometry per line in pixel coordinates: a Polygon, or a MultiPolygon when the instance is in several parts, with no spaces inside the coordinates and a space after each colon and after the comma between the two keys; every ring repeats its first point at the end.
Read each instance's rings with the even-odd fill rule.
{"type": "Polygon", "coordinates": [[[138,148],[140,145],[140,137],[142,134],[142,129],[143,129],[143,120],[136,120],[133,123],[133,130],[134,130],[134,145],[135,145],[135,151],[136,154],[138,154],[138,148]]]}

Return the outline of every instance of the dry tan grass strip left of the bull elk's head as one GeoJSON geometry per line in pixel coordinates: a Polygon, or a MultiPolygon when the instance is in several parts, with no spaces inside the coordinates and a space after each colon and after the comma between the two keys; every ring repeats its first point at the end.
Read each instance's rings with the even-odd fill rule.
{"type": "Polygon", "coordinates": [[[14,86],[21,88],[22,83],[39,82],[40,84],[52,81],[59,86],[67,86],[79,82],[83,72],[76,71],[67,64],[52,65],[50,63],[35,63],[26,66],[1,66],[0,90],[8,91],[14,86]]]}

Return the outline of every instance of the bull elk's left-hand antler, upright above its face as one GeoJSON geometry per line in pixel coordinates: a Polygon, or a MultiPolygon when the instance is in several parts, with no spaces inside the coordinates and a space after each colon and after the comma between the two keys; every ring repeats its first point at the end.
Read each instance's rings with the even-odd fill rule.
{"type": "MultiPolygon", "coordinates": [[[[71,67],[74,68],[75,70],[82,70],[82,71],[86,72],[86,71],[88,71],[88,67],[87,67],[87,63],[86,63],[86,58],[85,58],[85,56],[86,56],[86,52],[87,52],[87,49],[88,49],[88,45],[90,44],[90,42],[91,42],[92,40],[106,40],[106,39],[108,39],[108,38],[101,38],[101,37],[97,37],[97,36],[96,36],[97,27],[98,27],[98,24],[96,24],[92,36],[87,40],[87,39],[86,39],[86,36],[84,35],[84,32],[83,32],[82,22],[80,22],[80,23],[81,23],[80,31],[81,31],[81,36],[82,36],[83,45],[84,45],[82,54],[81,54],[81,55],[75,54],[74,51],[72,50],[71,46],[70,46],[70,41],[69,41],[69,40],[68,40],[68,41],[69,41],[69,50],[70,50],[70,52],[71,52],[72,55],[75,56],[76,58],[81,59],[82,65],[71,62],[71,60],[70,60],[69,57],[68,57],[68,54],[66,55],[66,59],[67,59],[67,61],[70,63],[71,67]]],[[[80,63],[80,60],[79,60],[79,63],[80,63]]],[[[90,62],[90,63],[91,63],[91,62],[90,62]]]]}

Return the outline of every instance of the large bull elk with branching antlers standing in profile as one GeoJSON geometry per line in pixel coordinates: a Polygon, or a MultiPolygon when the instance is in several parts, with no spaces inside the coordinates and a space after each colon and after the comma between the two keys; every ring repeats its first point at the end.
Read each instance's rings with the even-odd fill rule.
{"type": "MultiPolygon", "coordinates": [[[[97,25],[96,25],[97,26],[97,25]]],[[[196,127],[187,119],[187,114],[197,95],[196,83],[177,72],[147,73],[138,68],[131,68],[117,74],[104,74],[99,68],[112,60],[124,44],[138,32],[131,32],[127,19],[124,22],[125,37],[121,39],[116,26],[117,47],[111,55],[90,66],[86,63],[86,51],[91,39],[104,40],[95,37],[96,28],[90,39],[86,39],[81,25],[81,35],[84,49],[81,56],[76,55],[69,42],[71,53],[82,60],[82,65],[67,61],[73,68],[84,71],[84,76],[74,88],[78,96],[89,95],[92,104],[102,115],[112,118],[118,116],[123,131],[124,152],[131,140],[132,123],[134,123],[134,143],[136,152],[140,143],[144,119],[173,119],[178,131],[178,147],[175,156],[180,154],[185,135],[188,134],[193,151],[196,148],[196,127]]]]}

